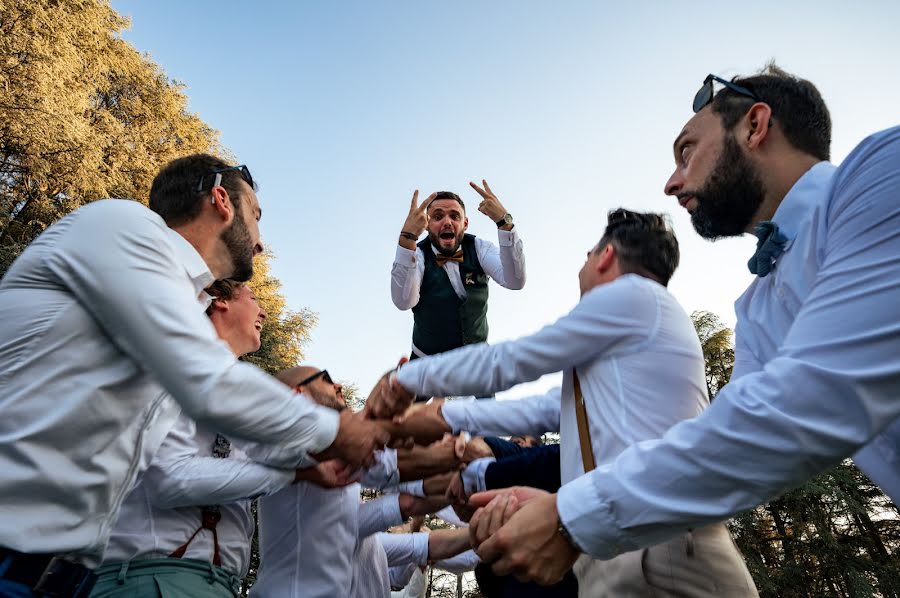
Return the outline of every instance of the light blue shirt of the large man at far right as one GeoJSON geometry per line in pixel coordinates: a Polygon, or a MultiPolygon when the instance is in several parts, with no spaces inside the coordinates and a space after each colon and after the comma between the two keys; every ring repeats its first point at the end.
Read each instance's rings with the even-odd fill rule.
{"type": "Polygon", "coordinates": [[[731,383],[701,416],[560,490],[590,554],[728,518],[863,446],[857,463],[900,500],[888,485],[900,470],[898,197],[900,127],[797,181],[774,216],[792,240],[736,305],[731,383]]]}

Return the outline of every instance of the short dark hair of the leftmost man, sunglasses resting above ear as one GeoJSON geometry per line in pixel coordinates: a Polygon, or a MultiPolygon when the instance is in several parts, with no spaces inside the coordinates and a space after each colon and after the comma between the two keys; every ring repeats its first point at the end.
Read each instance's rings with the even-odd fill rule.
{"type": "MultiPolygon", "coordinates": [[[[150,209],[162,216],[169,226],[180,226],[190,222],[200,214],[200,207],[209,197],[213,177],[206,177],[210,187],[204,185],[198,191],[197,185],[205,175],[214,170],[228,169],[230,164],[209,154],[193,154],[172,160],[159,171],[150,186],[150,209]]],[[[241,216],[241,173],[238,170],[223,170],[222,186],[228,191],[234,205],[235,216],[241,216]]],[[[246,184],[246,183],[245,183],[246,184]]]]}

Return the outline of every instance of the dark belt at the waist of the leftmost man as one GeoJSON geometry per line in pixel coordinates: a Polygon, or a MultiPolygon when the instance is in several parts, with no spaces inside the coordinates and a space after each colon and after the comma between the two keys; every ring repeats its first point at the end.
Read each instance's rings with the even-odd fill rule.
{"type": "Polygon", "coordinates": [[[52,554],[27,554],[0,546],[0,562],[8,563],[3,579],[52,598],[86,598],[94,587],[94,572],[52,554]]]}

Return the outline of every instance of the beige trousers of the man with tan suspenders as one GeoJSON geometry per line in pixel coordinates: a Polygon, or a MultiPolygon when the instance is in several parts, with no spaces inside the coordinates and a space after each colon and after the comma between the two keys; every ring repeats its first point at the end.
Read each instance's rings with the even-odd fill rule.
{"type": "Polygon", "coordinates": [[[609,561],[575,563],[579,598],[757,598],[747,565],[718,523],[609,561]]]}

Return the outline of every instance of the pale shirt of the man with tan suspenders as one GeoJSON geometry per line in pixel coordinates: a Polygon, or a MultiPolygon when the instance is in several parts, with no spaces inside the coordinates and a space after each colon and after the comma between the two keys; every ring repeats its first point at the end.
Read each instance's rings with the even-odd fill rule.
{"type": "MultiPolygon", "coordinates": [[[[659,438],[679,421],[699,414],[708,404],[700,341],[690,318],[665,287],[634,274],[585,293],[569,314],[537,333],[497,345],[474,345],[411,361],[400,368],[398,381],[415,393],[494,393],[521,382],[563,371],[563,385],[542,399],[553,423],[550,397],[561,397],[560,471],[562,481],[584,473],[575,419],[572,368],[578,372],[588,415],[591,446],[598,466],[610,463],[627,447],[659,438]]],[[[450,409],[451,420],[464,409],[472,427],[498,433],[522,433],[502,425],[502,406],[511,402],[477,401],[450,409]],[[484,411],[485,421],[479,419],[484,411]],[[493,431],[493,430],[492,430],[493,431]]],[[[444,414],[446,418],[447,414],[444,414]]],[[[519,417],[513,416],[518,420],[519,417]]],[[[536,431],[534,427],[532,430],[536,431]]],[[[560,494],[558,508],[566,522],[580,496],[560,494]]],[[[579,505],[580,506],[580,505],[579,505]]],[[[573,535],[588,533],[572,521],[573,535]]],[[[577,536],[580,539],[580,536],[577,536]]]]}

